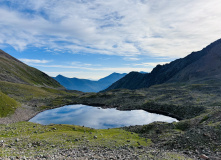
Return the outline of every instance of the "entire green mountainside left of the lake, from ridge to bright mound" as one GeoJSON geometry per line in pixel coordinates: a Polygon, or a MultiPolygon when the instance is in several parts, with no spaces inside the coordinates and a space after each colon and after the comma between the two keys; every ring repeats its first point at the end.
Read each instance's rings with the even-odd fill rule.
{"type": "Polygon", "coordinates": [[[2,50],[0,50],[0,93],[0,117],[13,114],[19,103],[39,107],[35,108],[39,110],[42,106],[51,106],[53,99],[69,95],[56,80],[2,50]]]}

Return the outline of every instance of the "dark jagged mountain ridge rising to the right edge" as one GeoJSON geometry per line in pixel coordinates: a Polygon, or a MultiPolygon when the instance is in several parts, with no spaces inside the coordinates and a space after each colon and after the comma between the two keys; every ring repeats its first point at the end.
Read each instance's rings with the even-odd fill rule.
{"type": "MultiPolygon", "coordinates": [[[[179,54],[179,53],[177,53],[179,54]]],[[[131,72],[106,90],[147,88],[170,82],[196,82],[221,79],[221,39],[198,52],[177,59],[169,64],[157,65],[152,72],[131,72]]]]}

